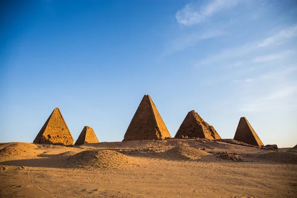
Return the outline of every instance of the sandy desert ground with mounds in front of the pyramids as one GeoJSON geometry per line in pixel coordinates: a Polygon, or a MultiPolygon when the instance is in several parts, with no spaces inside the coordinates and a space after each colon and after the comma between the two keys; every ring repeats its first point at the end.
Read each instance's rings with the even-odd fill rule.
{"type": "Polygon", "coordinates": [[[296,198],[297,149],[169,139],[0,144],[1,198],[296,198]]]}

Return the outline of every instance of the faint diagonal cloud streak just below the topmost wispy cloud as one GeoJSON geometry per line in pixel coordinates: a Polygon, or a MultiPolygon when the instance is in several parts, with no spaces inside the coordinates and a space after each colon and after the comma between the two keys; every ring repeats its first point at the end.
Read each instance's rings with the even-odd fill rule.
{"type": "Polygon", "coordinates": [[[171,42],[169,42],[163,55],[164,56],[170,55],[176,51],[181,51],[189,47],[195,46],[200,41],[219,37],[224,34],[225,34],[224,32],[220,32],[220,31],[209,31],[204,33],[193,33],[185,37],[174,39],[171,42]]]}

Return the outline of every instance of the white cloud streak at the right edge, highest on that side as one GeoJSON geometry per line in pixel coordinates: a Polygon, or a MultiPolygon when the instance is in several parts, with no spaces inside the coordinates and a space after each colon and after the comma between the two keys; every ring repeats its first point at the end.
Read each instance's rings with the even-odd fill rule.
{"type": "Polygon", "coordinates": [[[297,36],[297,25],[291,26],[287,29],[282,30],[278,34],[265,39],[264,41],[258,44],[258,47],[265,47],[271,44],[282,44],[288,39],[297,36]]]}

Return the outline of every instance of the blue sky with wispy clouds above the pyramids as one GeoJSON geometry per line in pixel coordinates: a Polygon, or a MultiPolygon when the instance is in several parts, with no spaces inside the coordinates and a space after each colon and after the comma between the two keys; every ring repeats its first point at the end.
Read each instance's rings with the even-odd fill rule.
{"type": "Polygon", "coordinates": [[[145,94],[171,136],[190,110],[233,138],[297,144],[296,0],[4,0],[0,142],[33,142],[55,107],[76,140],[122,141],[145,94]]]}

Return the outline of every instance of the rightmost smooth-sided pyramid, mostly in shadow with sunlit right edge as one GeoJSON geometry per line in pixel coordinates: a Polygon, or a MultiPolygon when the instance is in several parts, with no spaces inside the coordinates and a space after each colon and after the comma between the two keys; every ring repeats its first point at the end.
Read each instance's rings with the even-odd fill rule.
{"type": "Polygon", "coordinates": [[[264,146],[256,132],[250,126],[247,118],[241,117],[235,132],[234,140],[247,143],[253,146],[264,146]]]}

